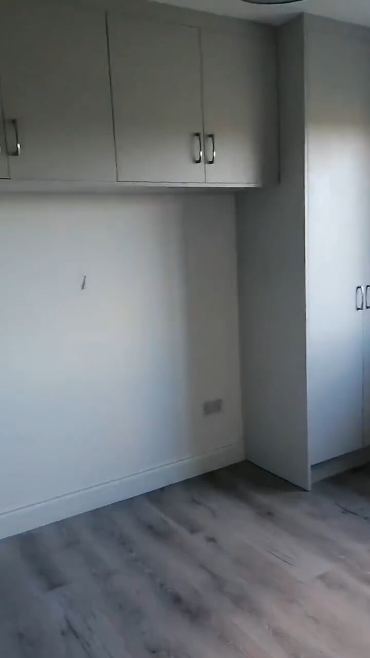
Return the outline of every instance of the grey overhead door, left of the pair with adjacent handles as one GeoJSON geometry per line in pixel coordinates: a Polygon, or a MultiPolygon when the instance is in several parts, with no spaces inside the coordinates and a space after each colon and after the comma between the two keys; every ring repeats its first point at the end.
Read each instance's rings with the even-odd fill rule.
{"type": "Polygon", "coordinates": [[[113,13],[109,48],[119,180],[204,182],[199,30],[113,13]]]}

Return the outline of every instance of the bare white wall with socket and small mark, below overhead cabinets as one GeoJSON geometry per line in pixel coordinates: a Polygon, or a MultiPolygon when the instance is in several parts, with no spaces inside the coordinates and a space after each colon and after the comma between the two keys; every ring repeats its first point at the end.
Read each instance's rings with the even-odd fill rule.
{"type": "Polygon", "coordinates": [[[18,508],[242,456],[233,195],[1,195],[0,300],[0,535],[130,492],[18,508]]]}

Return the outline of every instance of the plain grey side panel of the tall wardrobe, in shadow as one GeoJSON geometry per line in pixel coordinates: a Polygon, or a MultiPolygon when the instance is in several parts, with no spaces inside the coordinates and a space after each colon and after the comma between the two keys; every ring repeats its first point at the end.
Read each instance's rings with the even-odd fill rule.
{"type": "Polygon", "coordinates": [[[278,186],[238,197],[246,457],[310,487],[305,371],[305,145],[302,21],[279,29],[278,186]]]}

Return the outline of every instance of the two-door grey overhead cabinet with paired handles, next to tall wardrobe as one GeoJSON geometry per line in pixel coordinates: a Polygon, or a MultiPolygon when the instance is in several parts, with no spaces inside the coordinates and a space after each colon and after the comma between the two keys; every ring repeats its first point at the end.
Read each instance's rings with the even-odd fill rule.
{"type": "Polygon", "coordinates": [[[109,13],[118,178],[277,182],[272,28],[212,32],[109,13]]]}

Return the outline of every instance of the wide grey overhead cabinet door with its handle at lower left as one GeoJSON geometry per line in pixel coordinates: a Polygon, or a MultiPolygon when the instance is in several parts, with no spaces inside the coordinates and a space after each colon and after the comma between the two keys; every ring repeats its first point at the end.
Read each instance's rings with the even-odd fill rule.
{"type": "Polygon", "coordinates": [[[11,178],[115,180],[103,12],[5,0],[0,74],[11,178]]]}

